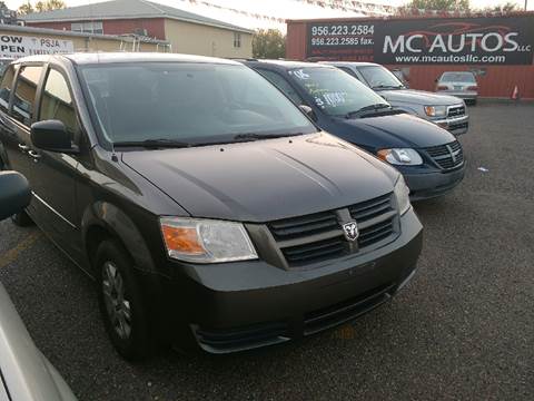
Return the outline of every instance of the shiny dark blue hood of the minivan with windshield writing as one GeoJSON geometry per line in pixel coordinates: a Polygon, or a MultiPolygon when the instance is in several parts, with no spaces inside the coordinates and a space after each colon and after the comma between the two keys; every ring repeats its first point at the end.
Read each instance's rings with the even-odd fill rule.
{"type": "Polygon", "coordinates": [[[344,126],[343,130],[346,133],[343,135],[344,139],[369,149],[421,148],[455,140],[447,130],[408,114],[354,119],[338,118],[336,123],[344,126]],[[347,127],[352,129],[346,129],[347,127]]]}

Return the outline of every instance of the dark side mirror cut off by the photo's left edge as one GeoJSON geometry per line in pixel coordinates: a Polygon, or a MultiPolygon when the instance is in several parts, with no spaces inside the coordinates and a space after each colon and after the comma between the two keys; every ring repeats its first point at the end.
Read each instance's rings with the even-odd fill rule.
{"type": "Polygon", "coordinates": [[[0,172],[0,221],[22,212],[31,200],[30,187],[23,175],[0,172]]]}

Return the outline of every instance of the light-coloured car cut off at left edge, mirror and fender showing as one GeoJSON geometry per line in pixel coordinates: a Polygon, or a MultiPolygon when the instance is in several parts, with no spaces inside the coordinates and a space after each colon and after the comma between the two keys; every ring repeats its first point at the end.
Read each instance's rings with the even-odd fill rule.
{"type": "MultiPolygon", "coordinates": [[[[22,211],[31,199],[28,182],[0,172],[0,221],[22,211]]],[[[0,283],[0,400],[76,400],[68,384],[36,348],[0,283]]]]}

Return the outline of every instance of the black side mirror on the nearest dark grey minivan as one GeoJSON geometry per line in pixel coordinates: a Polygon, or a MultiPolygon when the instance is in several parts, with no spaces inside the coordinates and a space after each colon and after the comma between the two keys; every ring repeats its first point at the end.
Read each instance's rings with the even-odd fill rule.
{"type": "Polygon", "coordinates": [[[43,150],[77,154],[76,145],[70,140],[63,123],[59,120],[44,120],[31,125],[31,141],[36,147],[43,150]]]}

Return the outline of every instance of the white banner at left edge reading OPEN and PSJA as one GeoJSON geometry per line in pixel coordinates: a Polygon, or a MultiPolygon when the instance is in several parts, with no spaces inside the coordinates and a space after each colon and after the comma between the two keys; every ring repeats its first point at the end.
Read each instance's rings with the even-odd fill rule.
{"type": "Polygon", "coordinates": [[[73,52],[71,40],[22,37],[17,35],[0,36],[0,56],[19,58],[32,55],[53,55],[73,52]]]}

